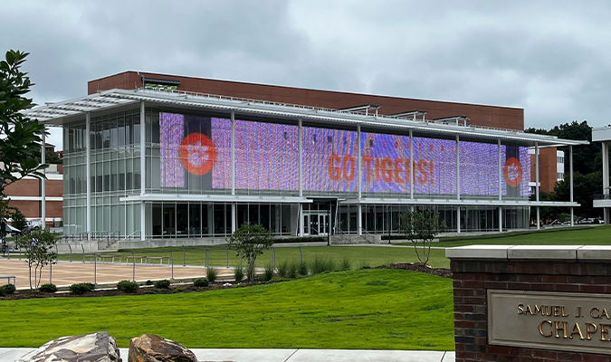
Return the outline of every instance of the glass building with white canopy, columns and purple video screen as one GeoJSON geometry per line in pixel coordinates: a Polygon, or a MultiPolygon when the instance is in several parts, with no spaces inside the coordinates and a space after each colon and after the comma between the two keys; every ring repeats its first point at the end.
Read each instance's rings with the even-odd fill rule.
{"type": "Polygon", "coordinates": [[[530,201],[529,150],[582,141],[368,110],[138,89],[27,115],[63,128],[66,235],[392,233],[410,209],[487,232],[528,228],[533,206],[578,206],[530,201]]]}

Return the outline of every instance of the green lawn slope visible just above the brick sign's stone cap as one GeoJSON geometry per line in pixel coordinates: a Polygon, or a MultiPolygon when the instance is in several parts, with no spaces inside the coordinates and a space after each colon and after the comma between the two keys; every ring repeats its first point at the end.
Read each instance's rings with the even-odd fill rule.
{"type": "Polygon", "coordinates": [[[434,246],[473,244],[508,245],[606,245],[611,244],[611,225],[558,227],[539,231],[441,238],[434,246]]]}

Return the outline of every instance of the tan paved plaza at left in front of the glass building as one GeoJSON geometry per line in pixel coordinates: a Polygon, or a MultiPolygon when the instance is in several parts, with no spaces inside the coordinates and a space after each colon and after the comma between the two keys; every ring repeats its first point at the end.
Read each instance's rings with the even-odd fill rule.
{"type": "MultiPolygon", "coordinates": [[[[220,269],[219,279],[233,277],[231,269],[220,269]]],[[[30,288],[29,270],[24,260],[6,260],[0,258],[0,275],[14,275],[17,289],[30,288]]],[[[69,286],[78,282],[96,284],[114,284],[118,281],[156,281],[161,279],[191,279],[205,277],[205,267],[176,266],[112,262],[57,262],[43,268],[41,284],[53,282],[58,287],[69,286]]],[[[0,285],[6,284],[0,279],[0,285]]]]}

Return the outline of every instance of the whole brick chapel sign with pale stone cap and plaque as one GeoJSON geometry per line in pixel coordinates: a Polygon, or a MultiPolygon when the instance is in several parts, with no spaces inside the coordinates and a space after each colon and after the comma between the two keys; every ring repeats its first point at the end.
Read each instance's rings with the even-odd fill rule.
{"type": "Polygon", "coordinates": [[[446,255],[457,362],[611,361],[611,247],[478,245],[446,255]]]}

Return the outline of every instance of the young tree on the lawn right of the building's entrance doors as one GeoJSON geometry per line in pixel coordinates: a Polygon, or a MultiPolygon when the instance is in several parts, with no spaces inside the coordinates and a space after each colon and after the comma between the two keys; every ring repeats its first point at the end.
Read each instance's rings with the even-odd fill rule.
{"type": "Polygon", "coordinates": [[[427,264],[431,256],[431,243],[434,237],[443,233],[445,224],[440,223],[439,215],[430,210],[407,211],[401,214],[401,224],[399,232],[406,236],[406,239],[414,243],[415,255],[423,264],[427,264]],[[418,243],[422,243],[422,256],[418,253],[418,243]]]}

